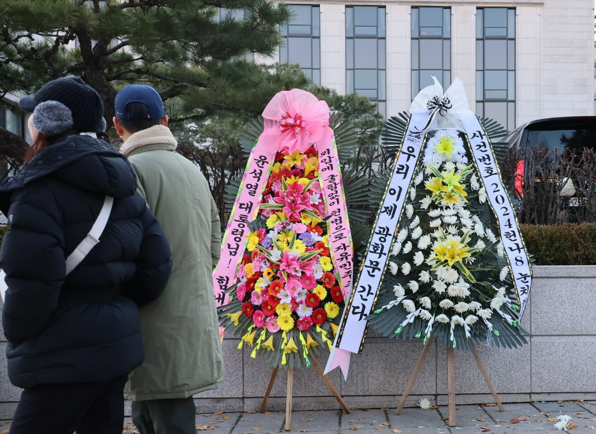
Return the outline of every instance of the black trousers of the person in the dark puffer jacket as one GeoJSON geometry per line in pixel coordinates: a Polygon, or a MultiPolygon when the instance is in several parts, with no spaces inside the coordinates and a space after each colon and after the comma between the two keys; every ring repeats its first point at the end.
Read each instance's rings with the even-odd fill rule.
{"type": "Polygon", "coordinates": [[[122,434],[127,377],[24,389],[10,434],[122,434]]]}

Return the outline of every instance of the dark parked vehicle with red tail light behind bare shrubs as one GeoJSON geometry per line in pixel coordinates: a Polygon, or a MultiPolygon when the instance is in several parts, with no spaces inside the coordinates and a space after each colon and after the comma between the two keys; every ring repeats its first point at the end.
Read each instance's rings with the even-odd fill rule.
{"type": "Polygon", "coordinates": [[[502,139],[514,156],[522,220],[548,224],[596,218],[596,116],[538,119],[502,139]],[[532,188],[529,188],[532,186],[532,188]]]}

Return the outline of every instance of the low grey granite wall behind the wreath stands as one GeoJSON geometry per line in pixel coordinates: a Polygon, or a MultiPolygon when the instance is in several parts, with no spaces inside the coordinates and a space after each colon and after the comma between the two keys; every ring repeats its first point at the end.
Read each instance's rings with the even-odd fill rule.
{"type": "MultiPolygon", "coordinates": [[[[522,325],[532,333],[519,349],[492,346],[478,353],[501,401],[596,399],[596,265],[535,266],[530,301],[522,325]]],[[[199,413],[258,410],[272,368],[239,339],[224,339],[225,380],[218,390],[195,396],[199,413]]],[[[0,343],[2,350],[5,342],[0,343]]],[[[352,408],[395,407],[422,351],[420,340],[401,341],[371,332],[362,355],[352,357],[347,382],[339,370],[330,379],[352,408]]],[[[326,356],[321,365],[326,362],[326,356]]],[[[470,352],[455,351],[458,404],[492,402],[492,395],[470,352]]],[[[20,390],[8,382],[0,355],[0,419],[14,412],[20,390]]],[[[434,344],[406,406],[420,398],[446,404],[446,352],[434,344]]],[[[268,410],[285,408],[286,371],[280,370],[268,410]]],[[[339,408],[314,369],[294,374],[293,408],[339,408]]]]}

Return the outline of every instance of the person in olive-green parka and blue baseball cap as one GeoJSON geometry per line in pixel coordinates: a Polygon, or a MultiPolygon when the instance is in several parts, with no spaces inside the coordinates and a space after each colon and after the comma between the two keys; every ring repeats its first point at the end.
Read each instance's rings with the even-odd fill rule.
{"type": "Polygon", "coordinates": [[[145,361],[125,398],[141,434],[195,434],[193,395],[223,377],[212,271],[221,249],[218,209],[201,171],[176,153],[163,102],[147,85],[116,95],[114,126],[138,190],[163,227],[173,270],[162,296],[141,309],[145,361]]]}

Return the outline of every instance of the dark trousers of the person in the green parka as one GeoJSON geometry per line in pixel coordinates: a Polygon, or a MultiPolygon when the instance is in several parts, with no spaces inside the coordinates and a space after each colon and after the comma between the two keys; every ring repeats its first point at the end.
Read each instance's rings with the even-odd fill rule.
{"type": "Polygon", "coordinates": [[[132,401],[132,422],[141,434],[197,434],[193,397],[132,401]]]}

